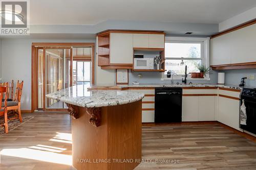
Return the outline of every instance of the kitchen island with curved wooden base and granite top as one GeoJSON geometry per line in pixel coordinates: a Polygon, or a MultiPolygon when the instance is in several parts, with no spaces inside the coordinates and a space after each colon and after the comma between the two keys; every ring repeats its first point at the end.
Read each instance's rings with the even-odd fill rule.
{"type": "Polygon", "coordinates": [[[65,102],[72,117],[76,169],[134,169],[141,159],[143,93],[77,85],[47,94],[65,102]]]}

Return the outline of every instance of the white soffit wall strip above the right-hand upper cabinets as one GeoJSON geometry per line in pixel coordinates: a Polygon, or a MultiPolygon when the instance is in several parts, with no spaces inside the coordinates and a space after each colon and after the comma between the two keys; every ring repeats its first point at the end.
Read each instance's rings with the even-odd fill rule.
{"type": "Polygon", "coordinates": [[[219,23],[219,32],[241,25],[256,18],[256,7],[219,23]]]}

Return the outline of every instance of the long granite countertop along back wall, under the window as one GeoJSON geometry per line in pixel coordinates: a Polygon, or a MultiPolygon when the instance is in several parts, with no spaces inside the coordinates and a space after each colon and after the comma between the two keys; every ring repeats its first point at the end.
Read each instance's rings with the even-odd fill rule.
{"type": "Polygon", "coordinates": [[[133,87],[222,87],[222,88],[230,88],[230,89],[238,89],[241,90],[242,87],[236,85],[220,85],[220,84],[129,84],[129,85],[99,85],[99,86],[91,86],[89,90],[121,90],[124,88],[133,88],[133,87]]]}

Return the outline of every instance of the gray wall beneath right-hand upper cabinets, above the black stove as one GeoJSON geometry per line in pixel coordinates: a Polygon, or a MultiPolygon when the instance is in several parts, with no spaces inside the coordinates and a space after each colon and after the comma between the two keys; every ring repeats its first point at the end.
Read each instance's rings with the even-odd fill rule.
{"type": "MultiPolygon", "coordinates": [[[[256,75],[256,69],[234,69],[219,72],[225,72],[225,83],[231,85],[239,85],[241,78],[246,76],[249,77],[249,75],[256,75]]],[[[256,87],[256,81],[247,79],[246,85],[256,87]]]]}

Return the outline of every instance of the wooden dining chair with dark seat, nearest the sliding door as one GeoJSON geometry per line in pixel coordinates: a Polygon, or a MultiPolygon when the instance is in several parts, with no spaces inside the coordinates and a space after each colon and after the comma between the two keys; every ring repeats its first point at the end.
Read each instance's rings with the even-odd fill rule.
{"type": "MultiPolygon", "coordinates": [[[[22,123],[22,113],[20,111],[20,100],[22,98],[22,89],[23,89],[23,81],[20,83],[19,81],[17,81],[13,101],[7,102],[7,111],[9,110],[17,111],[16,113],[18,115],[15,118],[9,118],[8,120],[18,118],[20,123],[22,123]]],[[[4,106],[4,102],[2,102],[2,107],[3,106],[4,106]]]]}

